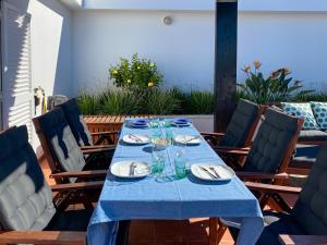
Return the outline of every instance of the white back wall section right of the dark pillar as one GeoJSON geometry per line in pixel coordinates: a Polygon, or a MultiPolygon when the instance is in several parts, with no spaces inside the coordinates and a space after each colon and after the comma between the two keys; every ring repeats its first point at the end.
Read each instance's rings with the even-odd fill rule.
{"type": "Polygon", "coordinates": [[[240,70],[255,59],[263,71],[287,66],[311,88],[327,90],[327,14],[241,12],[239,14],[238,81],[240,70]]]}

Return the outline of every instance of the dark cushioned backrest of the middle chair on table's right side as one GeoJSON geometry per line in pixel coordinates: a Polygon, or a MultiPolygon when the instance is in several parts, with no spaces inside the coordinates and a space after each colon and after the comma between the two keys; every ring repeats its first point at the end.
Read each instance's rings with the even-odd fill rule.
{"type": "Polygon", "coordinates": [[[259,125],[244,171],[284,172],[295,149],[303,119],[268,108],[259,125]]]}

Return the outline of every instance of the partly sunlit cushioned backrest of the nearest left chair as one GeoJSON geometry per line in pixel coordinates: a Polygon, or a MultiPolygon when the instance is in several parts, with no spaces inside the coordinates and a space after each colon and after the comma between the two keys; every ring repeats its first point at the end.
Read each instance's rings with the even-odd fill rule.
{"type": "Polygon", "coordinates": [[[0,224],[4,230],[43,230],[56,208],[26,126],[0,134],[0,224]]]}

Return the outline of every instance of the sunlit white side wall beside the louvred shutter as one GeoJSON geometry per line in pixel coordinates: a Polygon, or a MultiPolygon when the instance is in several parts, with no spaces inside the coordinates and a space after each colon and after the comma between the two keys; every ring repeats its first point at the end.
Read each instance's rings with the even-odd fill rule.
{"type": "Polygon", "coordinates": [[[71,12],[57,0],[8,0],[31,13],[32,87],[72,95],[71,12]]]}

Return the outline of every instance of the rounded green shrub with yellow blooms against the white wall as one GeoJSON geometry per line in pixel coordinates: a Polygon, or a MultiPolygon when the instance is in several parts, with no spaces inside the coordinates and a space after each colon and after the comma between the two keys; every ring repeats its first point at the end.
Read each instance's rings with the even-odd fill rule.
{"type": "Polygon", "coordinates": [[[110,78],[117,87],[130,90],[144,90],[156,87],[162,82],[156,63],[147,59],[140,59],[135,53],[131,61],[120,58],[120,62],[109,69],[110,78]]]}

